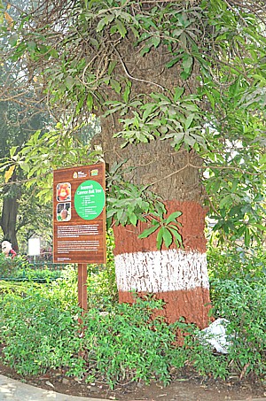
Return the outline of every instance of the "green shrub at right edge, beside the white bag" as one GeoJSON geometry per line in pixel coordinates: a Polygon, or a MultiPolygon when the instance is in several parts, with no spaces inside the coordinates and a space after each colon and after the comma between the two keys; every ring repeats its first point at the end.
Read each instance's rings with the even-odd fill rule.
{"type": "Polygon", "coordinates": [[[240,377],[266,374],[266,275],[246,279],[216,280],[214,313],[229,320],[226,329],[231,346],[228,360],[240,377]]]}

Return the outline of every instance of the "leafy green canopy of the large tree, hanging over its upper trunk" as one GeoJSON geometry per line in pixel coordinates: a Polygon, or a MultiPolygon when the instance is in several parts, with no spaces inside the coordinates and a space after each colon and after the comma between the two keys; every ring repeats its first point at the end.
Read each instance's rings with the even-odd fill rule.
{"type": "MultiPolygon", "coordinates": [[[[118,147],[168,141],[173,151],[199,155],[195,161],[188,158],[185,166],[202,175],[204,202],[215,228],[223,237],[244,235],[246,245],[252,237],[262,239],[263,2],[43,0],[19,12],[2,2],[2,10],[2,35],[8,45],[2,47],[1,58],[23,64],[27,88],[45,98],[59,122],[56,130],[33,135],[23,150],[12,150],[3,168],[20,166],[29,184],[38,181],[43,186],[40,175],[46,177],[52,168],[105,157],[81,146],[75,136],[93,112],[118,123],[113,132],[118,147]],[[135,63],[129,57],[132,52],[135,63]],[[158,67],[151,79],[145,69],[151,64],[145,60],[154,60],[158,67]],[[160,79],[162,72],[166,80],[160,79]]],[[[121,178],[115,166],[110,182],[112,174],[121,178]]],[[[51,175],[47,182],[42,190],[48,199],[51,175]]],[[[136,224],[148,211],[147,202],[136,203],[125,216],[127,199],[142,197],[153,182],[140,192],[132,182],[119,182],[115,205],[109,199],[109,216],[136,224]]]]}

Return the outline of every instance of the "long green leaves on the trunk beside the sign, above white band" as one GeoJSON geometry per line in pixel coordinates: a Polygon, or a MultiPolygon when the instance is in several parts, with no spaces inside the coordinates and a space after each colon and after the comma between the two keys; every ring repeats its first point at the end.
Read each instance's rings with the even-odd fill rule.
{"type": "MultiPolygon", "coordinates": [[[[146,238],[157,231],[157,249],[160,250],[162,243],[168,248],[171,243],[176,243],[179,248],[183,245],[182,237],[179,234],[178,226],[181,223],[177,220],[181,212],[173,212],[164,218],[166,214],[165,205],[160,197],[156,196],[149,186],[133,185],[122,178],[127,174],[126,169],[121,169],[123,162],[114,164],[107,173],[107,226],[127,224],[137,225],[137,221],[148,223],[138,238],[146,238]]],[[[130,171],[131,168],[128,169],[130,171]]]]}

